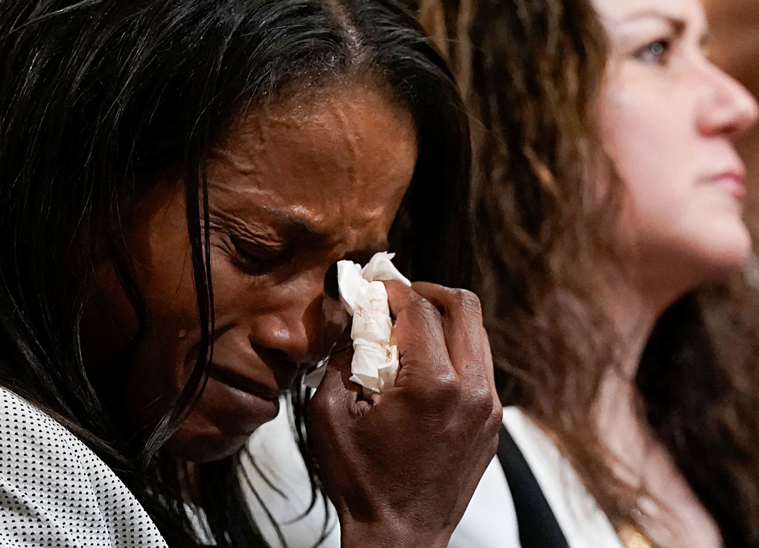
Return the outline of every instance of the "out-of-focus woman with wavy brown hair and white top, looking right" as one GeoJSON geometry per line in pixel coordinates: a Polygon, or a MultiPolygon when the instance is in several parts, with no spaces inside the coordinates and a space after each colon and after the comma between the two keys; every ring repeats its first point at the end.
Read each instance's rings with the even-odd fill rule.
{"type": "Polygon", "coordinates": [[[732,141],[754,99],[707,58],[697,0],[482,0],[470,24],[499,451],[527,468],[454,543],[537,487],[523,546],[759,545],[759,333],[725,306],[755,298],[723,283],[751,257],[732,141]]]}

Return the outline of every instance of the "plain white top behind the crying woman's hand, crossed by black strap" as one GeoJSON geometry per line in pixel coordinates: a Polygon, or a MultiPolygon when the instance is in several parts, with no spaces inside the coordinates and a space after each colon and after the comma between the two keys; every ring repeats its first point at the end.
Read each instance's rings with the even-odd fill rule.
{"type": "MultiPolygon", "coordinates": [[[[282,405],[285,408],[285,405],[282,405]]],[[[598,509],[553,442],[515,407],[503,410],[503,424],[524,454],[546,501],[570,548],[622,548],[622,543],[606,515],[598,509]]],[[[319,537],[324,516],[322,505],[298,519],[307,509],[309,483],[303,461],[288,424],[281,412],[276,420],[263,425],[249,444],[258,467],[274,488],[252,467],[246,474],[276,520],[291,548],[310,548],[319,537]],[[280,491],[278,493],[277,491],[280,491]]],[[[251,496],[251,507],[261,531],[274,548],[283,546],[266,522],[260,502],[251,496]]],[[[340,537],[332,510],[332,530],[322,546],[339,548],[340,537]]],[[[458,524],[449,548],[518,548],[517,519],[509,486],[497,458],[490,462],[464,517],[458,524]]],[[[547,547],[546,547],[547,548],[547,547]]]]}

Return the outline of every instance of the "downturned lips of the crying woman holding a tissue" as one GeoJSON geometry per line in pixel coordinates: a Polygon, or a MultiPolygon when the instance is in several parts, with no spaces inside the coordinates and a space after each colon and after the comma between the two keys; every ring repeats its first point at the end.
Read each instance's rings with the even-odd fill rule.
{"type": "Polygon", "coordinates": [[[255,418],[259,424],[273,420],[279,413],[279,396],[284,393],[281,390],[272,389],[216,364],[209,367],[208,376],[209,380],[221,385],[214,387],[213,392],[218,395],[221,390],[224,397],[228,398],[224,402],[225,407],[234,407],[248,417],[255,418]]]}

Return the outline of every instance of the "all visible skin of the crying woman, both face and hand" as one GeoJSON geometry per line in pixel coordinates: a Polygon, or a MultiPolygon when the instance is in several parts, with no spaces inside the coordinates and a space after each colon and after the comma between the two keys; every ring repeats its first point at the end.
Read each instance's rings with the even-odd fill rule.
{"type": "MultiPolygon", "coordinates": [[[[235,452],[276,415],[298,367],[329,354],[348,331],[329,291],[332,266],[386,249],[416,155],[410,116],[366,86],[250,112],[216,146],[213,365],[170,452],[189,461],[235,452]]],[[[200,332],[181,181],[157,184],[132,219],[146,332],[133,340],[134,310],[105,264],[87,311],[98,335],[87,346],[99,367],[117,372],[116,395],[137,427],[183,386],[200,332]]],[[[309,439],[345,546],[442,548],[496,448],[501,406],[490,348],[469,292],[390,283],[389,303],[397,387],[365,401],[347,382],[350,343],[338,345],[310,405],[309,439]]]]}

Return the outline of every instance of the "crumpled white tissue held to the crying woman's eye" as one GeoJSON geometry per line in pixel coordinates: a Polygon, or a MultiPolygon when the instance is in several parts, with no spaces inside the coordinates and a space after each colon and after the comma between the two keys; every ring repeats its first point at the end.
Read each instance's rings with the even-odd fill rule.
{"type": "MultiPolygon", "coordinates": [[[[392,264],[395,254],[374,254],[364,268],[350,260],[337,263],[340,301],[353,317],[353,361],[351,381],[370,392],[395,386],[398,374],[398,347],[392,344],[392,320],[387,291],[382,282],[411,282],[392,264]]],[[[324,376],[324,363],[306,376],[306,386],[317,388],[324,376]]]]}

